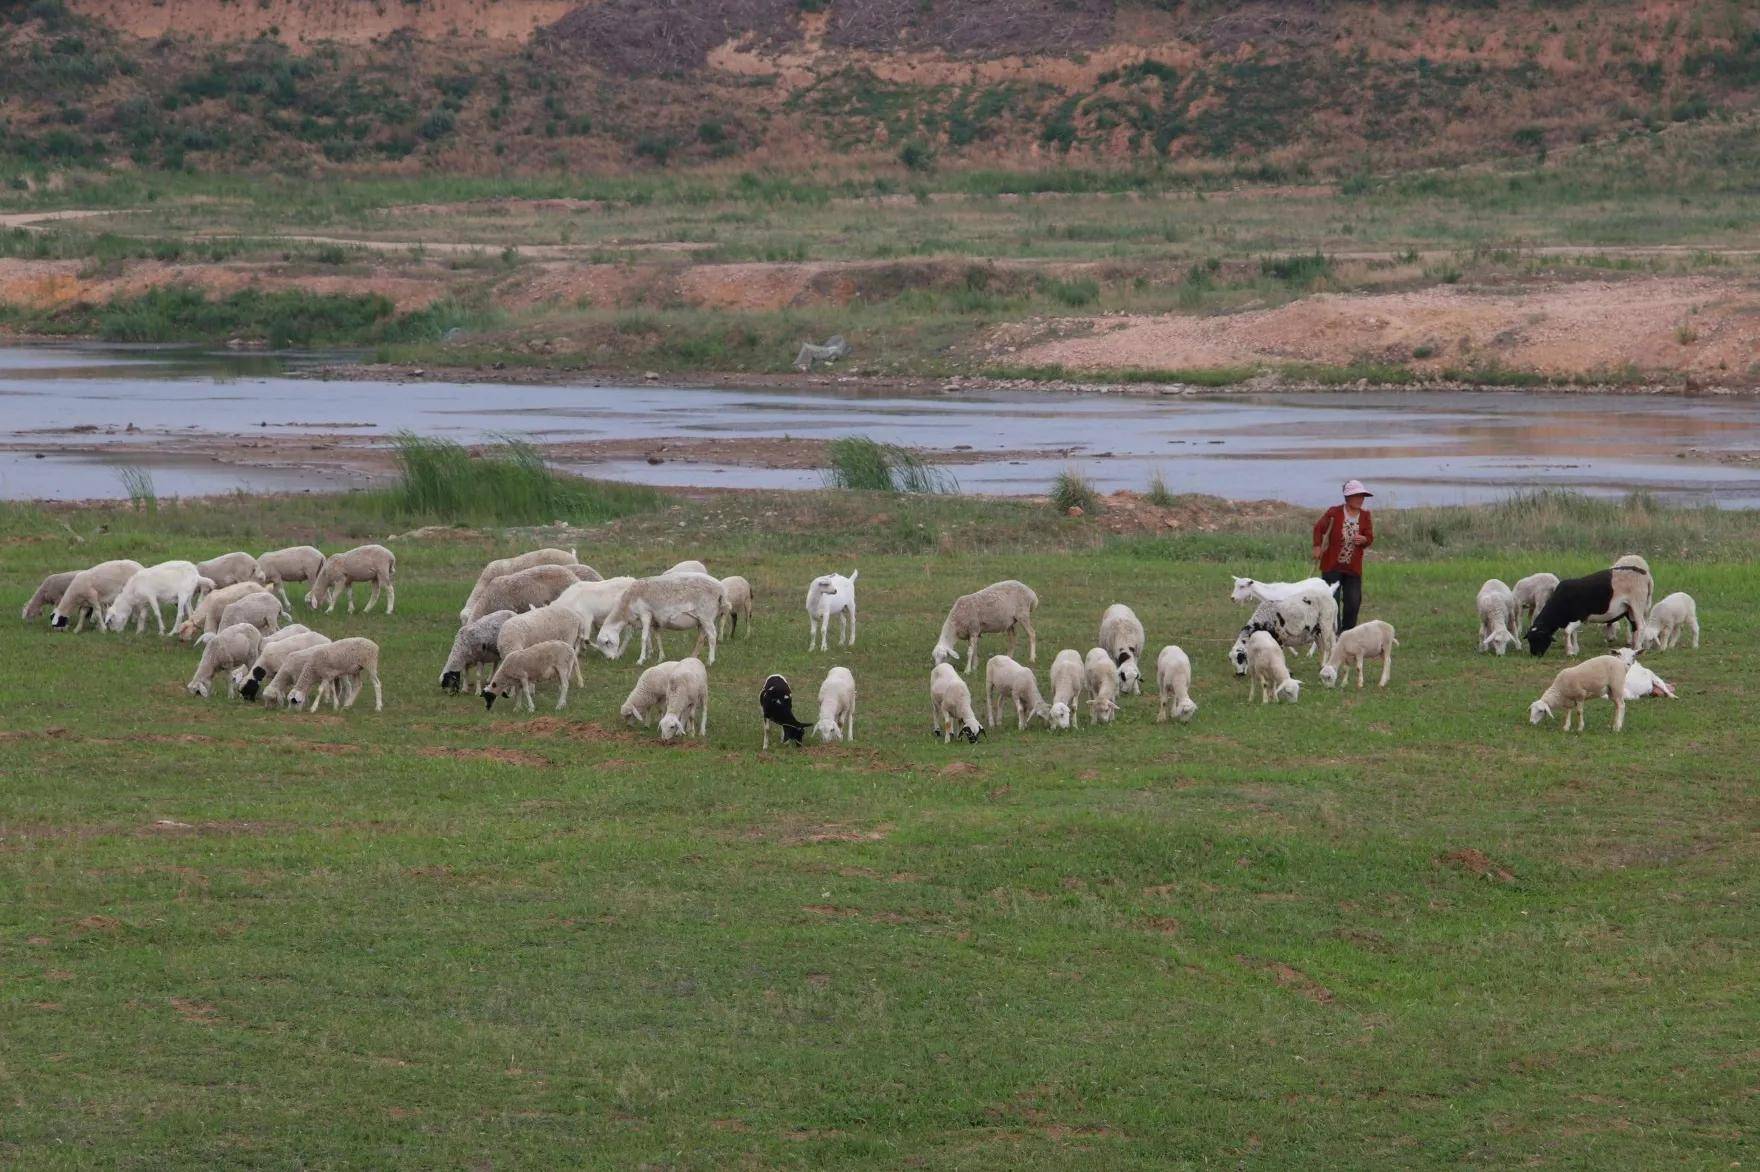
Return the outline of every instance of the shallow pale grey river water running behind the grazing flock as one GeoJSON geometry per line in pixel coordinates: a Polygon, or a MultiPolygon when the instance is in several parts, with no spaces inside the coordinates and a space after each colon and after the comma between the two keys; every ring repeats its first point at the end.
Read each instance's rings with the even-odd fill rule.
{"type": "MultiPolygon", "coordinates": [[[[123,496],[121,465],[148,468],[160,496],[334,489],[364,480],[285,461],[222,463],[190,445],[303,433],[382,443],[407,429],[465,443],[510,433],[537,443],[869,435],[910,447],[972,445],[977,456],[1012,454],[952,468],[961,489],[994,494],[1042,493],[1060,470],[1075,468],[1102,489],[1142,489],[1160,472],[1176,493],[1304,505],[1334,500],[1338,482],[1357,477],[1383,509],[1482,502],[1529,487],[1644,489],[1679,502],[1760,507],[1760,463],[1730,459],[1760,452],[1756,399],[1533,391],[898,394],[848,385],[715,391],[296,377],[336,357],[0,347],[0,498],[123,496]],[[123,442],[150,449],[106,454],[123,442]]],[[[813,470],[672,459],[565,466],[676,486],[822,482],[813,470]]]]}

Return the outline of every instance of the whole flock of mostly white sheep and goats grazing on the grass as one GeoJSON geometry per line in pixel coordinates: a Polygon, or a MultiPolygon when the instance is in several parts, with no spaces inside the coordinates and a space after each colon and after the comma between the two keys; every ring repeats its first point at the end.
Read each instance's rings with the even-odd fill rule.
{"type": "MultiPolygon", "coordinates": [[[[317,709],[327,697],[338,709],[352,707],[364,683],[373,686],[375,711],[384,707],[378,679],[378,644],[371,639],[329,637],[292,623],[287,582],[308,582],[310,609],[336,609],[347,600],[354,612],[354,590],[368,584],[363,614],[384,597],[385,614],[396,607],[396,554],[384,546],[359,546],[326,556],[312,546],[276,549],[257,558],[229,553],[209,561],[164,561],[143,567],[130,560],[104,561],[86,570],[51,574],[25,605],[30,621],[51,609],[51,626],[74,632],[88,621],[121,632],[132,621],[136,632],[146,628],[148,612],[165,632],[162,607],[174,605],[172,630],[183,641],[197,641],[201,662],[188,681],[188,692],[208,697],[213,679],[227,674],[229,695],[266,704],[306,706],[317,709]],[[285,625],[283,625],[285,623],[285,625]]],[[[855,644],[857,574],[825,574],[808,586],[808,649],[831,649],[831,625],[838,619],[838,646],[855,644]]],[[[1380,660],[1378,686],[1392,678],[1392,653],[1399,646],[1394,628],[1369,619],[1338,632],[1334,586],[1322,579],[1301,582],[1258,582],[1234,579],[1232,598],[1253,604],[1251,618],[1228,651],[1236,676],[1248,678],[1248,700],[1257,692],[1260,702],[1297,702],[1301,681],[1292,678],[1288,655],[1302,648],[1320,655],[1320,681],[1327,686],[1350,681],[1364,686],[1364,663],[1380,660]]],[[[1582,706],[1589,699],[1610,699],[1616,707],[1614,729],[1624,723],[1624,702],[1639,695],[1674,695],[1654,672],[1637,663],[1646,648],[1674,648],[1686,630],[1698,646],[1698,616],[1693,598],[1668,595],[1651,604],[1649,565],[1628,554],[1607,570],[1580,579],[1559,581],[1552,574],[1533,574],[1515,588],[1500,579],[1478,591],[1482,651],[1503,655],[1519,646],[1517,626],[1529,619],[1526,641],[1533,655],[1544,655],[1556,634],[1563,632],[1570,655],[1577,653],[1577,630],[1584,623],[1602,623],[1614,637],[1619,621],[1628,625],[1628,648],[1558,672],[1547,692],[1529,707],[1529,720],[1565,714],[1582,727],[1582,706]]],[[[459,630],[440,672],[440,686],[479,692],[486,707],[496,699],[517,697],[535,711],[540,685],[554,681],[556,707],[568,702],[570,683],[581,683],[581,649],[591,644],[605,658],[616,660],[641,635],[637,665],[648,663],[625,699],[620,714],[632,725],[646,727],[660,713],[662,741],[679,736],[706,736],[709,722],[709,676],[716,648],[734,637],[744,623],[752,628],[752,584],[739,575],[711,577],[700,561],[679,561],[651,577],[602,579],[581,565],[572,549],[535,549],[514,558],[489,561],[477,575],[459,611],[459,630]],[[695,632],[690,656],[665,660],[665,632],[695,632]],[[699,655],[708,651],[706,658],[699,655]]],[[[1072,729],[1088,722],[1111,723],[1121,697],[1142,692],[1142,662],[1148,637],[1137,614],[1123,604],[1100,616],[1098,641],[1089,651],[1068,648],[1051,662],[1051,697],[1038,686],[1037,672],[1014,658],[1019,635],[1026,634],[1028,663],[1038,658],[1033,612],[1038,595],[1024,582],[1003,581],[954,600],[931,649],[929,704],[933,730],[942,741],[964,737],[977,741],[1014,709],[1016,727],[1024,730],[1033,720],[1049,729],[1072,729]],[[1008,651],[986,662],[986,720],[979,720],[972,690],[963,679],[977,667],[979,641],[989,634],[1007,634],[1008,651]],[[964,670],[959,644],[964,642],[964,670]]],[[[1155,656],[1155,681],[1160,699],[1156,720],[1186,722],[1197,713],[1192,699],[1192,660],[1177,646],[1165,646],[1155,656]]],[[[517,702],[516,700],[516,702],[517,702]]],[[[771,729],[785,743],[801,743],[808,725],[796,718],[792,688],[783,676],[769,676],[759,695],[764,718],[764,746],[771,729]]],[[[834,667],[818,690],[818,718],[813,732],[824,741],[854,741],[855,678],[847,667],[834,667]]]]}

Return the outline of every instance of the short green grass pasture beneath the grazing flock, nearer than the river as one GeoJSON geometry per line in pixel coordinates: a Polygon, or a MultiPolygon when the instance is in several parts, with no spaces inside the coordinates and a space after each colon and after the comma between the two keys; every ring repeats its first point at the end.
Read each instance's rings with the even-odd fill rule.
{"type": "MultiPolygon", "coordinates": [[[[380,714],[202,702],[181,644],[0,623],[0,1161],[1734,1167],[1755,519],[1549,509],[1378,517],[1394,683],[1302,660],[1294,707],[1248,706],[1223,651],[1227,575],[1299,575],[1301,519],[1105,538],[825,494],[597,528],[605,574],[700,556],[757,590],[683,746],[620,727],[634,653],[560,716],[438,690],[477,567],[549,535],[394,542],[391,618],[296,607],[380,641],[380,714]],[[1529,727],[1563,660],[1475,655],[1478,584],[1628,547],[1698,600],[1704,649],[1653,662],[1683,699],[1529,727]],[[806,653],[806,582],[852,565],[857,648],[806,653]],[[1042,670],[1130,602],[1192,655],[1193,723],[1146,695],[931,741],[942,614],[1000,577],[1040,593],[1042,670]],[[855,744],[760,753],[764,676],[810,709],[832,663],[855,744]]],[[[0,588],[387,531],[324,500],[9,509],[0,588]]]]}

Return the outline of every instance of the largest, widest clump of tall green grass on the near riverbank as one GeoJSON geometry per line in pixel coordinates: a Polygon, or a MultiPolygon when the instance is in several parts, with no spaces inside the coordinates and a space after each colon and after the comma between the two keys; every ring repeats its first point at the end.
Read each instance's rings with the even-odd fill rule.
{"type": "Polygon", "coordinates": [[[665,496],[639,484],[588,480],[553,470],[532,443],[502,436],[472,456],[452,440],[401,433],[398,482],[377,493],[400,517],[498,524],[611,521],[658,509],[665,496]]]}

